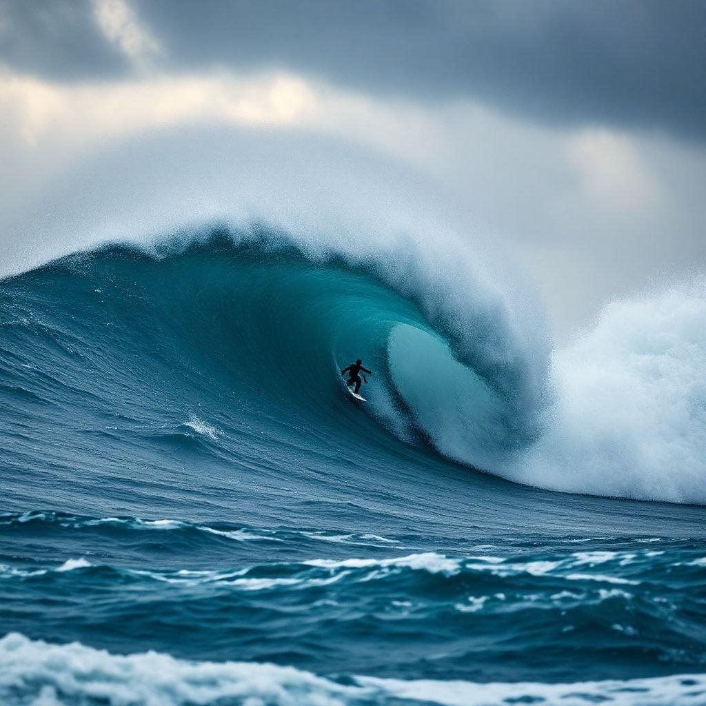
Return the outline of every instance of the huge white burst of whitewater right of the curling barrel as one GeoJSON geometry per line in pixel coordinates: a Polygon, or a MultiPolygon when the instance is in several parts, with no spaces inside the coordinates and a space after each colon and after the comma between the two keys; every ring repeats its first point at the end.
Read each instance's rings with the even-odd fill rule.
{"type": "Polygon", "coordinates": [[[552,379],[544,436],[503,474],[554,490],[706,503],[705,279],[609,304],[592,332],[554,352],[552,379]]]}

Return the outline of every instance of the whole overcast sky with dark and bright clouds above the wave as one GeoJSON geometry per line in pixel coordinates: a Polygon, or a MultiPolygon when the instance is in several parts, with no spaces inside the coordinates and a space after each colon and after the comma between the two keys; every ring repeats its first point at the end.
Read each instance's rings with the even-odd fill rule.
{"type": "Polygon", "coordinates": [[[556,330],[706,265],[702,0],[0,0],[0,274],[212,217],[448,229],[556,330]]]}

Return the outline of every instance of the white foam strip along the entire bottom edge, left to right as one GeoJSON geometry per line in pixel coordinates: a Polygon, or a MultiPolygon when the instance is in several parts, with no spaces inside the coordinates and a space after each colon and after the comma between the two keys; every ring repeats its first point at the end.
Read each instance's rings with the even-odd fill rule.
{"type": "MultiPolygon", "coordinates": [[[[624,626],[621,626],[624,628],[624,626]]],[[[617,629],[617,628],[616,628],[617,629]]],[[[706,676],[676,675],[576,683],[474,683],[352,676],[343,685],[287,666],[191,662],[146,652],[122,656],[78,642],[52,645],[11,633],[0,639],[4,706],[381,706],[405,700],[435,706],[543,702],[562,706],[702,706],[706,676]]]]}

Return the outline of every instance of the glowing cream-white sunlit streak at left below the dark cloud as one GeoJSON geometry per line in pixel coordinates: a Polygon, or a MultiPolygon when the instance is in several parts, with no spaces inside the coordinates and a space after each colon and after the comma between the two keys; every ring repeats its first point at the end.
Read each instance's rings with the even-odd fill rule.
{"type": "Polygon", "coordinates": [[[30,145],[71,134],[88,142],[189,122],[277,126],[320,109],[312,85],[275,76],[164,76],[59,85],[0,75],[0,105],[30,145]]]}

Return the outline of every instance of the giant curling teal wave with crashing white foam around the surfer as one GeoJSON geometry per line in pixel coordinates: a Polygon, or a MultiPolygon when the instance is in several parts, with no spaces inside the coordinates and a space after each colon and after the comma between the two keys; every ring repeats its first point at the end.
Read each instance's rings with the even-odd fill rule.
{"type": "MultiPolygon", "coordinates": [[[[299,468],[431,448],[544,489],[706,502],[702,283],[612,304],[554,352],[531,299],[462,249],[406,240],[359,251],[221,227],[76,253],[2,289],[3,395],[20,421],[46,412],[76,435],[78,467],[98,441],[147,465],[174,445],[299,468]],[[364,409],[337,379],[356,357],[375,371],[364,409]]],[[[18,434],[8,449],[29,457],[18,434]]]]}

